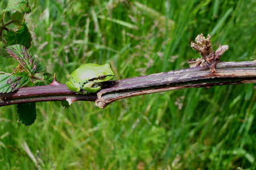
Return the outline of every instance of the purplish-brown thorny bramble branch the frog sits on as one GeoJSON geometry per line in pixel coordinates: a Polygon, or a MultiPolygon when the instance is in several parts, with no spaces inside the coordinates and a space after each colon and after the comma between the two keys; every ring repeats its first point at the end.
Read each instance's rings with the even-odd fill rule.
{"type": "Polygon", "coordinates": [[[132,77],[105,82],[98,93],[77,94],[64,84],[20,88],[15,93],[0,94],[0,106],[43,101],[94,101],[101,109],[118,99],[149,93],[184,88],[210,88],[216,85],[232,85],[256,82],[256,60],[220,62],[216,72],[209,67],[193,67],[148,76],[132,77]]]}

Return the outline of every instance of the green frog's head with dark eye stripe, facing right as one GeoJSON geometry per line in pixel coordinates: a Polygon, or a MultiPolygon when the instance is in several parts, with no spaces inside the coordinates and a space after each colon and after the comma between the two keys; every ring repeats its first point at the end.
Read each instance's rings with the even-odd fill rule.
{"type": "Polygon", "coordinates": [[[111,69],[110,64],[106,63],[101,65],[100,71],[98,72],[97,82],[109,81],[114,77],[114,72],[111,69]]]}

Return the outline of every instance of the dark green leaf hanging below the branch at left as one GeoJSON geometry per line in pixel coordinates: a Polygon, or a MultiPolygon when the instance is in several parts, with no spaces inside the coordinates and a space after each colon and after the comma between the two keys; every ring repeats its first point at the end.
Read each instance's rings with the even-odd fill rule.
{"type": "Polygon", "coordinates": [[[17,105],[18,122],[25,126],[30,126],[36,119],[35,103],[24,103],[17,105]]]}

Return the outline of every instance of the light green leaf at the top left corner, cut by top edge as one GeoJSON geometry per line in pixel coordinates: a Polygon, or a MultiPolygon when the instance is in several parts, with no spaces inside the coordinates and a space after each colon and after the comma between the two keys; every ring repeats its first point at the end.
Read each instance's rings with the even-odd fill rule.
{"type": "Polygon", "coordinates": [[[2,13],[9,11],[18,11],[23,14],[28,14],[31,12],[31,9],[28,5],[28,0],[9,0],[6,9],[2,10],[2,13]]]}

